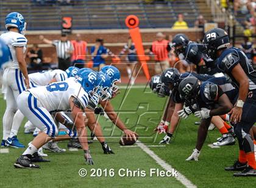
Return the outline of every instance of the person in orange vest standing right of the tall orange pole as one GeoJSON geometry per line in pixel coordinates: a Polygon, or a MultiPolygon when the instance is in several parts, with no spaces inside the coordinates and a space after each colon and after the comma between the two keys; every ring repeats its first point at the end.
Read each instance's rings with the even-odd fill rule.
{"type": "Polygon", "coordinates": [[[152,43],[151,49],[145,50],[155,55],[155,73],[160,74],[163,70],[169,68],[168,53],[171,51],[169,41],[165,39],[163,33],[157,33],[157,40],[152,43]]]}

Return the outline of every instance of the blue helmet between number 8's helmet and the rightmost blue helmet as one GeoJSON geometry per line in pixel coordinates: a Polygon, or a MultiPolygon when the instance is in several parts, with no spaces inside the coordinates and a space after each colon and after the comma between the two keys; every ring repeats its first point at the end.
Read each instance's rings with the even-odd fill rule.
{"type": "Polygon", "coordinates": [[[102,80],[102,91],[100,92],[100,96],[102,101],[106,101],[112,97],[112,82],[110,81],[110,78],[102,72],[99,72],[99,76],[101,76],[102,80]]]}

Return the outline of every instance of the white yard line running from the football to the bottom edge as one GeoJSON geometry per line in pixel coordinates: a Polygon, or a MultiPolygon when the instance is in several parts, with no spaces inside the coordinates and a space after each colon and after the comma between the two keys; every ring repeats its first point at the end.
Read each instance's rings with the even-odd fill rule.
{"type": "MultiPolygon", "coordinates": [[[[169,165],[168,163],[166,163],[165,161],[163,161],[163,159],[161,159],[159,156],[155,155],[155,153],[150,150],[146,145],[144,145],[143,143],[141,143],[140,141],[137,141],[137,145],[140,146],[140,148],[148,153],[149,156],[151,156],[156,162],[157,164],[159,164],[160,166],[163,167],[163,169],[165,170],[176,170],[173,169],[171,165],[169,165]]],[[[191,183],[190,180],[188,180],[184,175],[182,175],[179,171],[177,171],[177,176],[175,176],[175,178],[180,181],[180,183],[182,183],[185,187],[196,187],[196,185],[194,185],[193,183],[191,183]]]]}

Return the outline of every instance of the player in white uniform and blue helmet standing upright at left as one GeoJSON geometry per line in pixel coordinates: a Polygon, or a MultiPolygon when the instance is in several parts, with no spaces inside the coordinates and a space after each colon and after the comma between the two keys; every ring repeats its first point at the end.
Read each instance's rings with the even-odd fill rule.
{"type": "Polygon", "coordinates": [[[21,92],[29,89],[27,64],[24,59],[27,39],[24,36],[26,22],[20,13],[12,12],[5,18],[5,28],[8,32],[0,36],[10,50],[10,63],[3,75],[3,88],[6,93],[6,110],[2,120],[3,137],[1,146],[24,147],[16,138],[17,130],[12,129],[13,116],[17,110],[16,99],[21,92]]]}

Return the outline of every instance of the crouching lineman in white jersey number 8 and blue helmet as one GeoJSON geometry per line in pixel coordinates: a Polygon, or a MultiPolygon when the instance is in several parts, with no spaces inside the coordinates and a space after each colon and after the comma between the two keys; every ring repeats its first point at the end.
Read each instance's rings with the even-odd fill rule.
{"type": "Polygon", "coordinates": [[[79,141],[84,150],[87,164],[93,164],[88,149],[87,130],[84,124],[83,111],[87,107],[88,100],[98,102],[101,97],[101,77],[96,72],[85,72],[78,78],[68,78],[63,82],[54,82],[49,86],[41,86],[29,89],[18,96],[18,108],[33,123],[41,133],[24,151],[14,164],[17,168],[39,168],[32,164],[32,155],[58,135],[57,126],[51,116],[51,112],[71,109],[74,124],[76,126],[79,141]]]}

